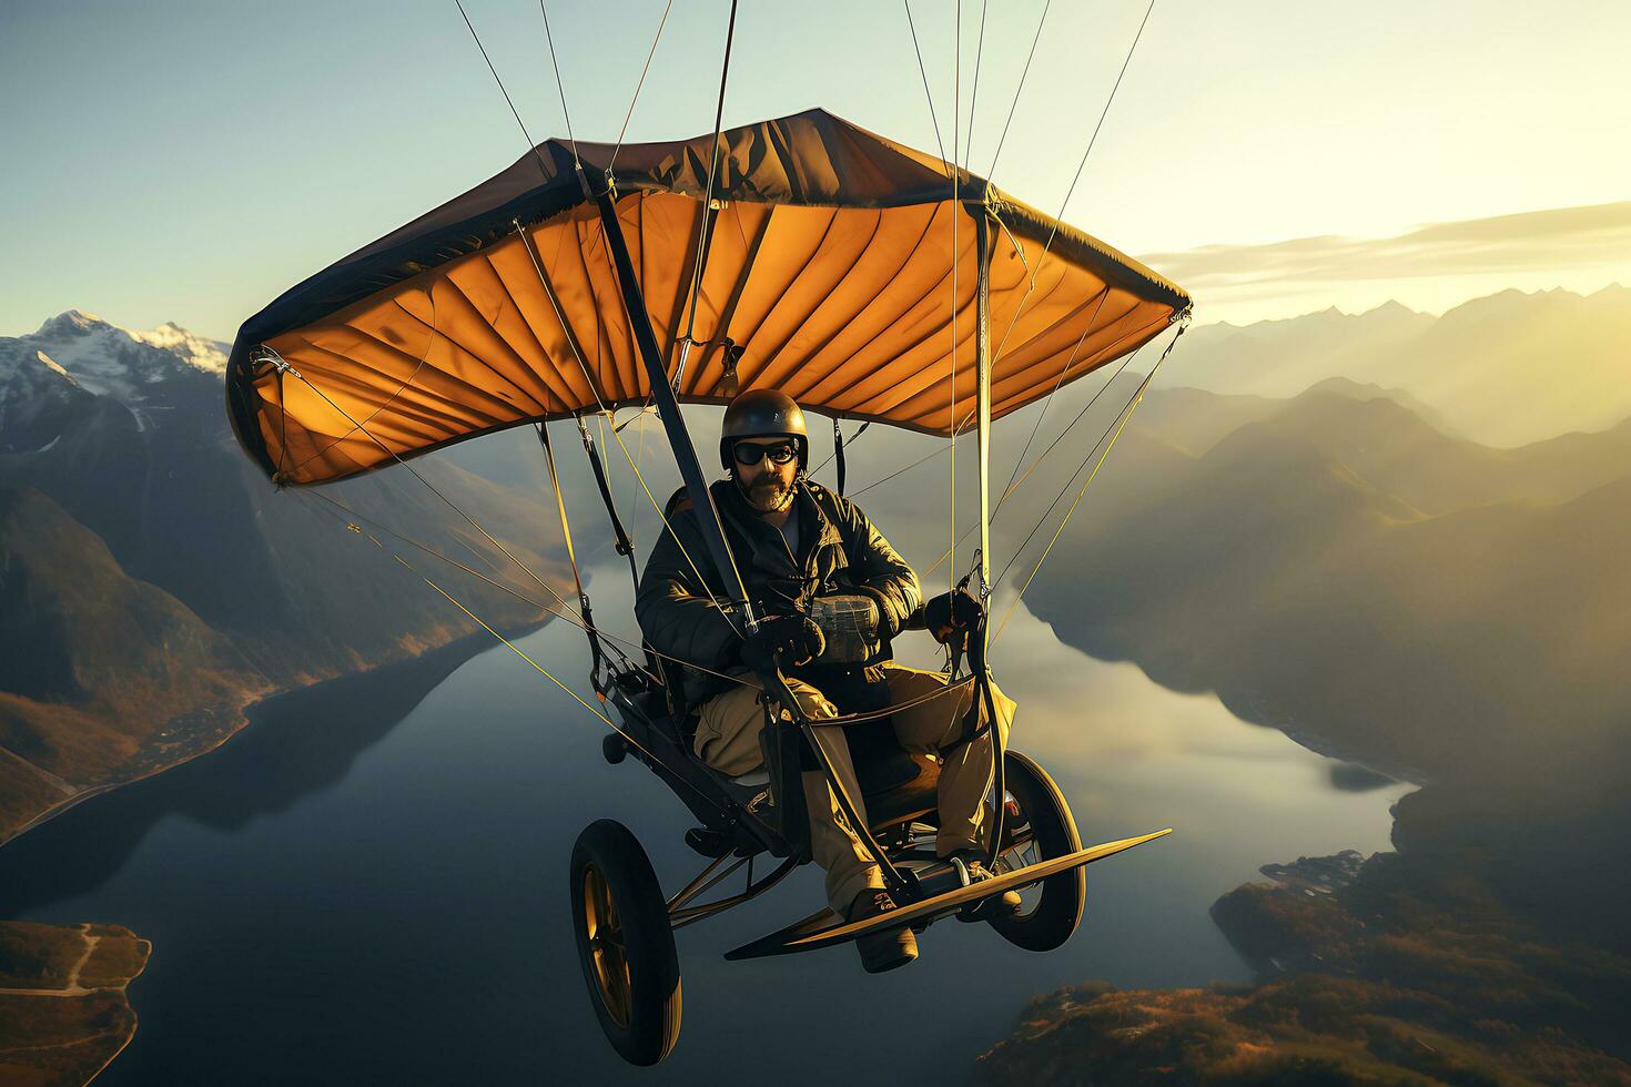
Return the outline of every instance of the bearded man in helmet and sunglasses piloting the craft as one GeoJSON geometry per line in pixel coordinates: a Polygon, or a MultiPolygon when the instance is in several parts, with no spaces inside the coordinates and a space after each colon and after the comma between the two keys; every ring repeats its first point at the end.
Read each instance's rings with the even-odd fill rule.
{"type": "MultiPolygon", "coordinates": [[[[812,720],[910,702],[891,720],[907,751],[941,761],[936,854],[962,860],[970,878],[990,878],[980,834],[992,738],[983,720],[979,735],[967,735],[972,684],[949,688],[943,673],[891,660],[891,639],[920,616],[917,574],[853,502],[804,477],[809,435],[804,412],[789,396],[768,389],[737,396],[724,414],[719,456],[729,479],[709,491],[762,618],[758,634],[744,637],[740,619],[721,610],[719,601],[731,596],[683,492],[670,502],[669,530],[651,552],[634,601],[652,649],[709,670],[685,670],[685,706],[698,717],[698,758],[732,777],[763,768],[758,733],[765,711],[755,676],[771,665],[783,668],[812,720]],[[829,637],[812,614],[835,613],[845,621],[830,624],[829,637]]],[[[977,610],[967,593],[948,593],[925,611],[944,642],[977,618],[977,610]]],[[[1006,737],[1014,704],[995,688],[992,694],[998,720],[990,724],[1006,737]]],[[[837,728],[820,730],[820,740],[864,818],[846,740],[837,728]]],[[[860,921],[895,909],[877,864],[845,820],[825,776],[807,769],[802,781],[811,852],[827,874],[833,911],[860,921]]],[[[1018,904],[1018,895],[1008,893],[990,908],[1018,904]]],[[[917,958],[908,927],[868,934],[856,945],[873,973],[917,958]]]]}

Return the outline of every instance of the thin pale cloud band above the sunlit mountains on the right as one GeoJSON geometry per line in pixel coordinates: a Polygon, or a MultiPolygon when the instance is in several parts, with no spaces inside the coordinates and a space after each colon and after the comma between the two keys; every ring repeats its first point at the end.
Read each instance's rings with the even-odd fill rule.
{"type": "Polygon", "coordinates": [[[1215,244],[1140,259],[1192,292],[1293,292],[1316,284],[1522,274],[1623,264],[1631,200],[1432,223],[1395,238],[1215,244]]]}

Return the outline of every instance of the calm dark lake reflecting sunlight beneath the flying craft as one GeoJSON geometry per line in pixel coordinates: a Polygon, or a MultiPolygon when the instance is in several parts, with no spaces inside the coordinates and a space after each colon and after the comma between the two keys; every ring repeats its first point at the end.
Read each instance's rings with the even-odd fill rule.
{"type": "MultiPolygon", "coordinates": [[[[631,632],[628,579],[594,579],[631,632]]],[[[925,636],[910,636],[926,642],[925,636]]],[[[519,642],[587,693],[582,632],[519,642]]],[[[926,649],[904,652],[928,663],[926,649]]],[[[271,699],[219,751],[90,800],[0,849],[0,916],[124,924],[153,942],[135,1040],[98,1082],[961,1082],[1026,1001],[1088,979],[1246,981],[1207,909],[1258,865],[1390,847],[1408,786],[1341,766],[1212,696],[1062,645],[1021,610],[998,644],[1013,746],[1070,797],[1085,843],[1163,826],[1088,869],[1088,911],[1034,955],[944,921],[882,976],[848,947],[721,955],[822,903],[806,867],[678,934],[685,1022],[669,1061],[621,1064],[579,973],[566,865],[595,818],[625,821],[672,893],[701,862],[690,825],[605,727],[509,649],[465,644],[271,699]],[[1336,781],[1344,781],[1337,776],[1336,781]],[[886,1043],[887,1040],[887,1043],[886,1043]],[[780,1066],[770,1071],[771,1063],[780,1066]]]]}

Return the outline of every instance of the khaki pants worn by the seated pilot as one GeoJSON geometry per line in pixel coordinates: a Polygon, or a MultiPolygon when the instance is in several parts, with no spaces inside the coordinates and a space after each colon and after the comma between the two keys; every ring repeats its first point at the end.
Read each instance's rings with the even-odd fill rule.
{"type": "MultiPolygon", "coordinates": [[[[928,755],[941,763],[939,771],[939,833],[935,852],[941,857],[957,849],[982,847],[985,800],[992,787],[992,735],[983,732],[975,740],[959,746],[962,717],[969,709],[974,684],[949,688],[944,673],[907,668],[886,663],[889,701],[894,706],[920,698],[928,701],[891,715],[900,746],[915,755],[928,755]],[[939,698],[933,698],[935,693],[939,698]]],[[[820,691],[799,680],[788,680],[788,688],[811,720],[837,717],[838,711],[820,691]]],[[[765,724],[757,686],[739,686],[719,694],[698,707],[696,755],[716,771],[737,777],[763,769],[765,758],[758,746],[758,733],[765,724]]],[[[997,684],[992,684],[992,701],[997,704],[995,727],[1001,728],[1006,748],[1008,728],[1013,724],[1014,702],[997,684]]],[[[982,711],[983,717],[983,711],[982,711]]],[[[855,802],[856,813],[866,818],[861,789],[855,779],[855,763],[842,728],[816,728],[816,737],[827,755],[845,792],[855,802]]],[[[855,896],[868,888],[884,887],[882,872],[873,862],[861,839],[845,820],[838,800],[820,771],[804,772],[804,803],[811,821],[811,854],[827,872],[827,903],[843,914],[855,896]]]]}

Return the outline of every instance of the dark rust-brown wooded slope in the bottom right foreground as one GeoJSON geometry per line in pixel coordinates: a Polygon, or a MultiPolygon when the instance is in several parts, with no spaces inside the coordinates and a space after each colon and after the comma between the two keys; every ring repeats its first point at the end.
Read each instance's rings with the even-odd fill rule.
{"type": "Polygon", "coordinates": [[[1334,893],[1241,887],[1212,913],[1259,984],[1039,996],[972,1082],[1631,1082],[1631,960],[1536,932],[1476,875],[1378,854],[1334,893]]]}

